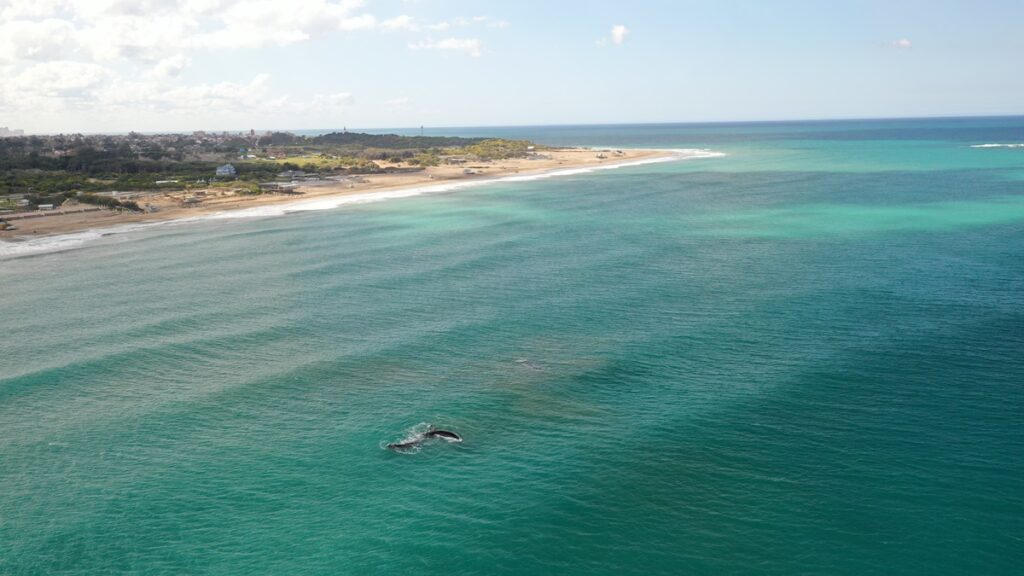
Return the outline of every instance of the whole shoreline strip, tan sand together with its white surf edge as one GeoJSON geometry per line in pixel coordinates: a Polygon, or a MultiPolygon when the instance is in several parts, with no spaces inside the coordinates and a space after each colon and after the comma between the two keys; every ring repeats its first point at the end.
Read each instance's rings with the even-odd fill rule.
{"type": "MultiPolygon", "coordinates": [[[[473,174],[475,177],[454,175],[451,167],[442,167],[414,174],[370,175],[360,188],[317,182],[302,187],[300,190],[303,194],[298,197],[261,195],[234,197],[221,202],[217,202],[220,199],[215,199],[210,205],[200,208],[172,208],[144,214],[73,209],[45,216],[19,218],[12,222],[32,225],[45,220],[50,225],[35,227],[32,233],[22,230],[0,232],[0,260],[70,250],[104,236],[157,225],[281,216],[293,212],[328,210],[345,204],[441,194],[500,182],[531,181],[598,170],[724,156],[723,153],[705,149],[623,149],[622,156],[598,159],[595,157],[597,151],[596,148],[561,150],[553,153],[551,160],[543,162],[524,159],[490,162],[473,174]],[[43,232],[37,232],[40,228],[43,232]]],[[[462,171],[462,167],[457,169],[462,171]]]]}

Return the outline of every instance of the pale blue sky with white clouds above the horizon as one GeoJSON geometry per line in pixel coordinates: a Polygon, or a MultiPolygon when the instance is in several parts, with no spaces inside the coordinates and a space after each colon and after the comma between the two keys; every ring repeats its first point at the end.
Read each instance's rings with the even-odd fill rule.
{"type": "Polygon", "coordinates": [[[1024,114],[1024,0],[0,0],[30,133],[1024,114]]]}

